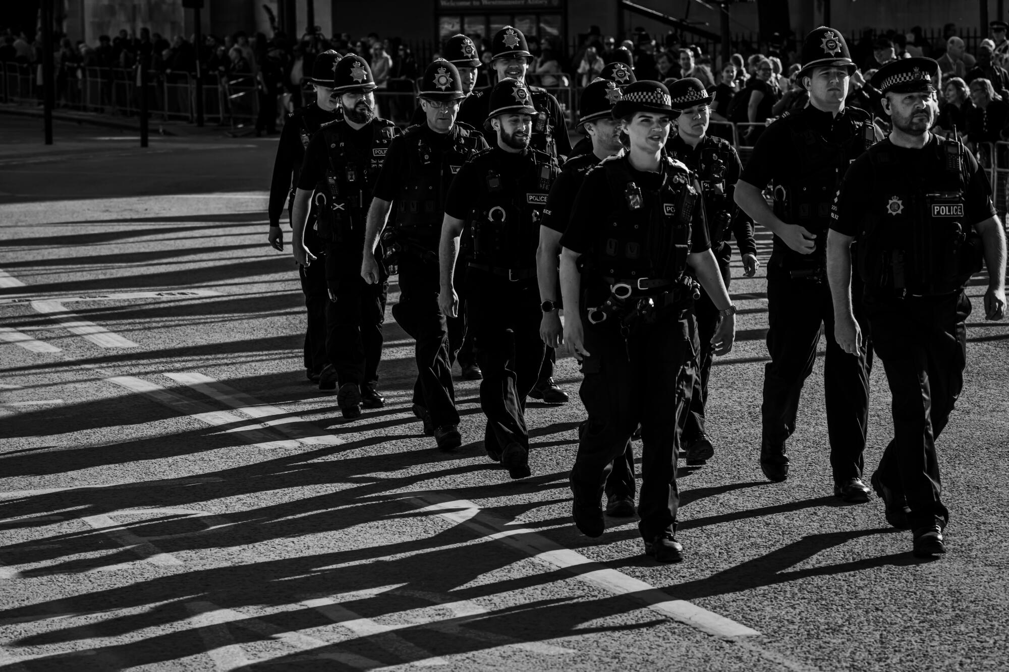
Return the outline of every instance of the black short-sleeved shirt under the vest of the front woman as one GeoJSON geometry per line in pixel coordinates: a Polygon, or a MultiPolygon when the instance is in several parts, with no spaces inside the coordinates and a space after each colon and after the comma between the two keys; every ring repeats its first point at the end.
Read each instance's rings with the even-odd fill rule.
{"type": "MultiPolygon", "coordinates": [[[[643,173],[631,167],[630,164],[628,171],[634,178],[634,182],[640,185],[643,190],[657,191],[662,186],[661,173],[643,173]]],[[[561,236],[561,246],[567,247],[577,254],[593,251],[595,241],[599,238],[599,225],[607,221],[606,217],[612,208],[613,196],[609,191],[605,170],[599,166],[589,171],[581,189],[578,190],[578,196],[575,197],[571,219],[568,222],[567,230],[561,236]]],[[[688,251],[703,252],[710,247],[711,241],[707,235],[707,224],[704,222],[704,209],[694,208],[693,218],[690,221],[690,249],[688,251]]]]}

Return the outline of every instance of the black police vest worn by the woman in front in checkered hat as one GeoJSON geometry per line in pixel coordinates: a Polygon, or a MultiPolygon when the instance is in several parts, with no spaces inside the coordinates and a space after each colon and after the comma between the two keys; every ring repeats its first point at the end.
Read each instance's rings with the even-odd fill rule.
{"type": "Polygon", "coordinates": [[[635,182],[626,157],[613,156],[599,165],[596,170],[606,173],[612,206],[598,229],[595,272],[609,284],[680,279],[687,267],[693,211],[701,207],[693,175],[665,157],[662,185],[651,190],[635,182]]]}

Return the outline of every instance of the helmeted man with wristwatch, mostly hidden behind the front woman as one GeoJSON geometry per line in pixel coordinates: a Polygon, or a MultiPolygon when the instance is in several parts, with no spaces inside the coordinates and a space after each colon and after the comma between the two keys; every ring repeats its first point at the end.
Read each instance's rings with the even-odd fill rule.
{"type": "MultiPolygon", "coordinates": [[[[618,65],[626,68],[624,64],[618,65]]],[[[630,70],[627,72],[630,73],[630,70]]],[[[631,74],[631,77],[634,75],[631,74]]],[[[590,150],[564,163],[543,211],[536,265],[543,302],[540,337],[547,347],[556,348],[563,343],[560,281],[557,275],[561,235],[571,219],[574,199],[585,174],[624,148],[620,125],[612,117],[613,105],[620,101],[623,89],[615,82],[604,79],[595,80],[582,91],[578,100],[578,130],[585,134],[590,150]]],[[[606,478],[606,514],[618,518],[634,516],[635,489],[634,451],[628,441],[627,450],[613,459],[612,470],[606,478]]]]}

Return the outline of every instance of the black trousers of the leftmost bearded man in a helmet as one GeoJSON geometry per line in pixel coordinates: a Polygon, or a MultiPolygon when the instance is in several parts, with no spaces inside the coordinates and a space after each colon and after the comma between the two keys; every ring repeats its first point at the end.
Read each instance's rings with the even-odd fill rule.
{"type": "Polygon", "coordinates": [[[340,385],[378,380],[388,282],[383,275],[368,285],[360,271],[359,254],[326,246],[326,285],[334,297],[326,311],[326,351],[340,385]]]}

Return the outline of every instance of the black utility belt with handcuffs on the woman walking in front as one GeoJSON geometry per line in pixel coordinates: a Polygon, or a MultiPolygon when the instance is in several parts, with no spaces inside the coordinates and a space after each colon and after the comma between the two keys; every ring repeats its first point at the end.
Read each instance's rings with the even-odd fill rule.
{"type": "Polygon", "coordinates": [[[586,308],[590,324],[600,324],[610,318],[619,320],[621,326],[639,319],[651,324],[660,317],[662,309],[700,298],[700,285],[688,275],[677,281],[658,277],[602,279],[609,285],[609,296],[600,305],[586,308]]]}

